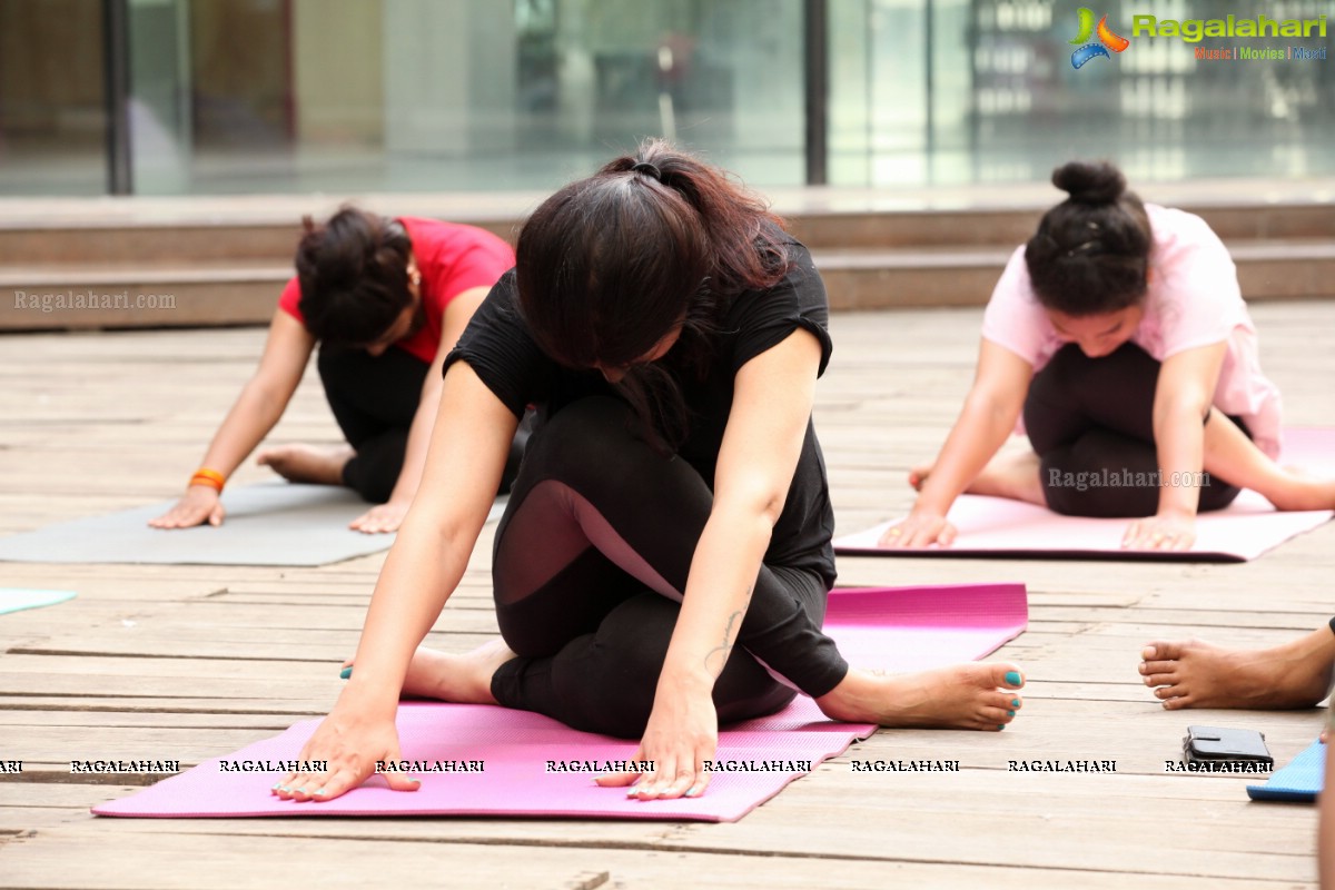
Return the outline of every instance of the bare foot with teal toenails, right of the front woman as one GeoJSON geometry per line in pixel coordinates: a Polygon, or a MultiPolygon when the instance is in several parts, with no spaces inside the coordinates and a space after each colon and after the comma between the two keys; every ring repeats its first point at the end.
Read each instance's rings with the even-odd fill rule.
{"type": "Polygon", "coordinates": [[[816,699],[826,717],[848,723],[952,730],[1001,730],[1021,706],[1024,675],[1015,664],[969,662],[918,674],[853,669],[816,699]]]}

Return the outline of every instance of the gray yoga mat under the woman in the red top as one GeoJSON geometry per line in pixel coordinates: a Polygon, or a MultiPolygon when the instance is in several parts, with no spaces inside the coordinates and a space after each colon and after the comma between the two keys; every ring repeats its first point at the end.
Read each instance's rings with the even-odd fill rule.
{"type": "MultiPolygon", "coordinates": [[[[174,502],[61,522],[0,538],[0,560],[200,566],[324,566],[387,550],[394,535],[366,535],[347,523],[368,508],[347,488],[287,482],[228,490],[218,528],[150,528],[174,502]]],[[[498,519],[505,499],[491,507],[498,519]]]]}

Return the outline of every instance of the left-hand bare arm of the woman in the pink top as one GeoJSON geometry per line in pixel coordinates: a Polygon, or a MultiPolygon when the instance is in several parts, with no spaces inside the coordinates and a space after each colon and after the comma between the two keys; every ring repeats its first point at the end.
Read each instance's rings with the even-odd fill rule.
{"type": "Polygon", "coordinates": [[[909,518],[881,538],[881,546],[949,544],[955,530],[945,522],[951,504],[1005,444],[1024,408],[1033,366],[1005,347],[984,339],[979,367],[964,408],[922,483],[909,518]],[[890,534],[897,530],[897,534],[890,534]]]}

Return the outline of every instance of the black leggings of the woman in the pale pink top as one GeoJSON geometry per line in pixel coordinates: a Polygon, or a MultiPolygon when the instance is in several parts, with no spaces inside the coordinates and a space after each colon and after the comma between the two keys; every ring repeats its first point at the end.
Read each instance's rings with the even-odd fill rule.
{"type": "MultiPolygon", "coordinates": [[[[1097,359],[1069,343],[1033,376],[1024,426],[1041,460],[1049,508],[1101,518],[1157,512],[1153,404],[1159,367],[1135,343],[1097,359]]],[[[1246,432],[1239,419],[1232,420],[1246,432]]],[[[1197,510],[1222,510],[1238,492],[1223,479],[1204,476],[1197,510]]]]}

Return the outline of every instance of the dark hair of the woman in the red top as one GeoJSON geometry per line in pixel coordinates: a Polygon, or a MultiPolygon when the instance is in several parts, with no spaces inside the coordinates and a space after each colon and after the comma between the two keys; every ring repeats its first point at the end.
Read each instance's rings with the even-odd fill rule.
{"type": "Polygon", "coordinates": [[[413,242],[396,219],[343,207],[323,226],[303,220],[296,247],[298,310],[306,330],[332,346],[379,339],[413,303],[413,242]]]}

